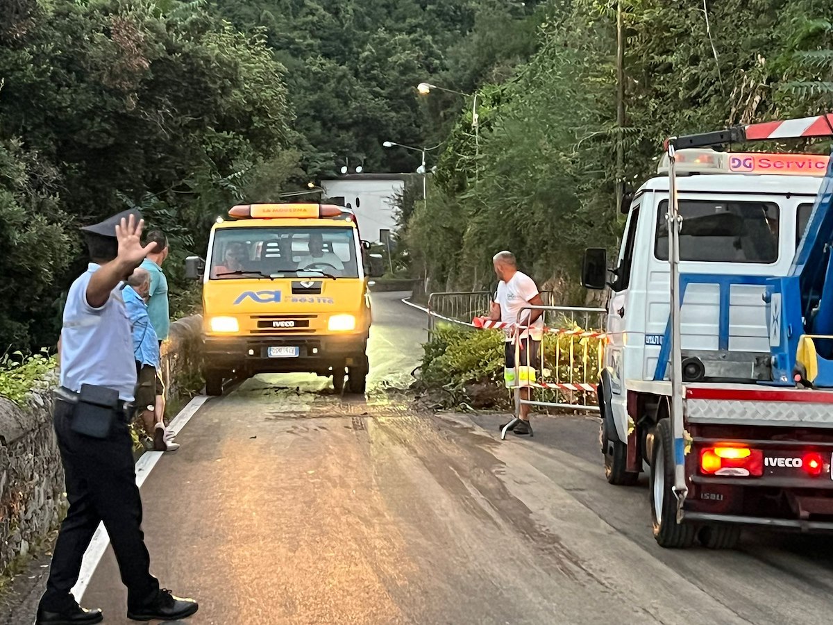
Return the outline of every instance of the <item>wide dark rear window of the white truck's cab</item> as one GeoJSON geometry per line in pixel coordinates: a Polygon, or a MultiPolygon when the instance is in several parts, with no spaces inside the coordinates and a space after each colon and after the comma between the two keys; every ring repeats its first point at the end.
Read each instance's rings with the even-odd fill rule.
{"type": "MultiPolygon", "coordinates": [[[[668,260],[668,201],[656,216],[654,253],[668,260]]],[[[680,200],[680,260],[709,263],[775,263],[778,205],[770,202],[680,200]]]]}

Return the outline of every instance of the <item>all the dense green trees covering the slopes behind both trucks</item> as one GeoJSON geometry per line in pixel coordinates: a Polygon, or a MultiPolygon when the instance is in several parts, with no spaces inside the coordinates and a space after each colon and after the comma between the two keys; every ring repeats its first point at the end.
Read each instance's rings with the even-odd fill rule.
{"type": "Polygon", "coordinates": [[[669,133],[833,109],[830,2],[621,6],[620,125],[614,0],[0,3],[0,350],[54,344],[77,226],[127,206],[171,236],[176,291],[230,204],[441,143],[427,201],[402,198],[402,263],[479,288],[511,248],[567,284],[619,234],[616,146],[636,184],[669,133]]]}

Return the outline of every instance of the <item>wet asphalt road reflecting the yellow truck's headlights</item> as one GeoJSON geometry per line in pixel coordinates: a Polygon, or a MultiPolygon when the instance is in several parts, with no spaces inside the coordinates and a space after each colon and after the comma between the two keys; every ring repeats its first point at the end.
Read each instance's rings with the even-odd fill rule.
{"type": "MultiPolygon", "coordinates": [[[[730,552],[651,537],[643,485],[607,485],[592,417],[414,413],[424,318],[374,296],[367,399],[262,376],[212,399],[142,487],[162,585],[192,623],[816,623],[828,537],[749,532],[730,552]]],[[[127,622],[112,552],[83,603],[127,622]]]]}

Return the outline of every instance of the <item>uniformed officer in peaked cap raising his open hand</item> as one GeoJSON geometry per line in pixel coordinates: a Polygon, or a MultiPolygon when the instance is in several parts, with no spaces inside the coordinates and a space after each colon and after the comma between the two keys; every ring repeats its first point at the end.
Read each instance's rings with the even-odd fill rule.
{"type": "Polygon", "coordinates": [[[197,612],[193,599],[174,597],[150,573],[142,533],[127,415],[136,386],[130,321],[122,281],[151,251],[142,247],[142,218],[125,211],[82,228],[87,272],[72,283],[63,311],[61,388],[53,414],[67,483],[69,511],[52,552],[36,625],[102,621],[72,597],[87,545],[104,523],[127,586],[127,617],[171,621],[197,612]]]}

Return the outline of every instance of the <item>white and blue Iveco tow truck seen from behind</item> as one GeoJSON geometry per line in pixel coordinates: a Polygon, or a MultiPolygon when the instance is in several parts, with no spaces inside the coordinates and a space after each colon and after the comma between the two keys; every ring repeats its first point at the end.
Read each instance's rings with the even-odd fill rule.
{"type": "Polygon", "coordinates": [[[662,547],[833,530],[833,164],[726,150],[831,136],[833,114],[671,138],[615,268],[587,250],[606,477],[647,468],[662,547]]]}

